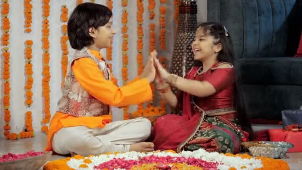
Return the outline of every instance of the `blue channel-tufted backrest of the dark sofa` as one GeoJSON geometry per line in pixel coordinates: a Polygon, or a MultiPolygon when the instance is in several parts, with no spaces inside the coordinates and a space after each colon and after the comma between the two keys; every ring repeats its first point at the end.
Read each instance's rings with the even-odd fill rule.
{"type": "Polygon", "coordinates": [[[208,0],[208,21],[226,25],[238,58],[293,57],[302,0],[208,0]]]}

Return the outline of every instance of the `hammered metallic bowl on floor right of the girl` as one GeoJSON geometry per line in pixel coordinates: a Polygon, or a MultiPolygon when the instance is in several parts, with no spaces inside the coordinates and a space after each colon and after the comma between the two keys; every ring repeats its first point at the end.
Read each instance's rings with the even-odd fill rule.
{"type": "Polygon", "coordinates": [[[251,141],[242,145],[249,150],[253,157],[285,158],[286,153],[294,145],[288,142],[251,141]]]}

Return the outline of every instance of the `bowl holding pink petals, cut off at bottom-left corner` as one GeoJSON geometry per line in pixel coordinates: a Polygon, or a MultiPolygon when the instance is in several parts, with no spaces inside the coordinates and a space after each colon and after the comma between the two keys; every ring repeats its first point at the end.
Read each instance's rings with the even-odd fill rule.
{"type": "Polygon", "coordinates": [[[25,158],[16,161],[0,163],[0,170],[40,170],[50,159],[52,152],[44,152],[43,155],[25,158]]]}

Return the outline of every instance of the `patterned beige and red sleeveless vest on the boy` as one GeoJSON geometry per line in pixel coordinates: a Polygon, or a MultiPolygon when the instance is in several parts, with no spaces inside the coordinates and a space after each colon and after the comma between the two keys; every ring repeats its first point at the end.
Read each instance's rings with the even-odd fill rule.
{"type": "MultiPolygon", "coordinates": [[[[103,60],[97,59],[87,48],[83,48],[80,51],[76,50],[71,64],[76,59],[83,57],[92,59],[103,72],[104,78],[110,80],[110,69],[108,64],[103,60]]],[[[109,109],[109,105],[102,103],[88,94],[75,79],[72,69],[69,69],[69,73],[64,81],[63,95],[58,101],[57,111],[75,117],[81,117],[107,115],[109,114],[109,109]]]]}

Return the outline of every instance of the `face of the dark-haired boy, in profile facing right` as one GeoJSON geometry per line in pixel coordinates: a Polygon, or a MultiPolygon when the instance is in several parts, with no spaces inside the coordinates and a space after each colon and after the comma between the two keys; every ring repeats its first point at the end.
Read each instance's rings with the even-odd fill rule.
{"type": "Polygon", "coordinates": [[[112,17],[109,22],[104,26],[99,26],[91,35],[94,39],[95,46],[99,49],[107,48],[110,46],[115,29],[112,28],[112,17]]]}

